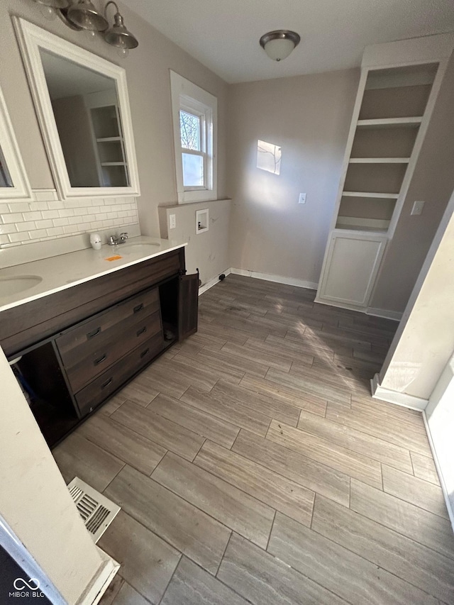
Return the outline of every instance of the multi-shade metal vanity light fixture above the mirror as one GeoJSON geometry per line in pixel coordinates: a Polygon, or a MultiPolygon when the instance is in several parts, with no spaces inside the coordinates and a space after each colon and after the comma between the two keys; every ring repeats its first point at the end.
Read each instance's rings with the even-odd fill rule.
{"type": "Polygon", "coordinates": [[[139,44],[137,38],[126,29],[123,16],[121,16],[118,6],[113,0],[107,2],[104,16],[96,11],[92,0],[76,0],[74,4],[71,4],[71,0],[35,0],[35,2],[45,9],[46,17],[51,16],[48,15],[48,11],[53,14],[56,13],[63,23],[72,30],[85,30],[92,33],[92,35],[95,35],[96,32],[105,32],[104,40],[106,40],[106,43],[115,46],[118,49],[118,54],[122,57],[126,57],[129,49],[136,48],[139,44]],[[111,28],[109,28],[109,21],[107,21],[109,4],[113,4],[116,9],[114,24],[111,28]]]}

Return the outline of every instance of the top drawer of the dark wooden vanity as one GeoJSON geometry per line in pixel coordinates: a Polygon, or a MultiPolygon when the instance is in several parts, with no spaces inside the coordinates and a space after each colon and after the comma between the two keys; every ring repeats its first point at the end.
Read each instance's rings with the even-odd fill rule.
{"type": "Polygon", "coordinates": [[[67,367],[74,365],[81,355],[87,355],[85,351],[98,349],[103,346],[101,340],[110,338],[110,335],[117,335],[118,329],[123,330],[123,323],[132,325],[139,321],[140,316],[159,309],[159,291],[153,288],[70,328],[55,340],[63,363],[67,367]]]}

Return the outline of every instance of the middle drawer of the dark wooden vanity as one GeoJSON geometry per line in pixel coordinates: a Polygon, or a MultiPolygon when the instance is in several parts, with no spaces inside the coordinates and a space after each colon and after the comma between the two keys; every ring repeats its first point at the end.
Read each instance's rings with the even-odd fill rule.
{"type": "MultiPolygon", "coordinates": [[[[79,357],[79,362],[76,365],[67,368],[67,379],[71,385],[72,392],[77,393],[80,391],[94,377],[104,372],[106,368],[113,365],[121,357],[124,357],[128,351],[137,348],[145,340],[158,335],[161,342],[163,342],[159,311],[140,318],[138,321],[135,318],[135,323],[126,329],[123,329],[124,323],[127,322],[118,325],[121,331],[115,330],[111,338],[104,338],[104,342],[100,341],[99,346],[96,346],[96,348],[90,343],[88,354],[84,355],[82,359],[79,357]]],[[[97,343],[95,342],[94,344],[96,345],[97,343]]],[[[77,348],[77,350],[87,353],[85,349],[82,347],[77,348]]]]}

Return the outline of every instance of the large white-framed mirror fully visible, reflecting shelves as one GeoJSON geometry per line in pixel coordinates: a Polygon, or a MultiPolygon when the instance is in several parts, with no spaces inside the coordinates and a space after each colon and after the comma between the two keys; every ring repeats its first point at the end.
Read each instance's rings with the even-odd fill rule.
{"type": "Polygon", "coordinates": [[[58,194],[139,195],[125,70],[33,23],[13,22],[58,194]]]}

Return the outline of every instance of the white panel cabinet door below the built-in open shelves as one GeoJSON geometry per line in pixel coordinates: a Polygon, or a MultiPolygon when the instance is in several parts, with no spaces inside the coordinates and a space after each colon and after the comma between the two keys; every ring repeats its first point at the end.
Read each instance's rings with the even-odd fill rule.
{"type": "Polygon", "coordinates": [[[380,235],[332,233],[316,300],[367,306],[386,242],[380,235]]]}

